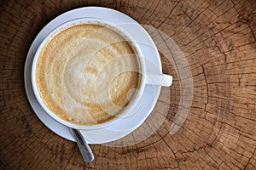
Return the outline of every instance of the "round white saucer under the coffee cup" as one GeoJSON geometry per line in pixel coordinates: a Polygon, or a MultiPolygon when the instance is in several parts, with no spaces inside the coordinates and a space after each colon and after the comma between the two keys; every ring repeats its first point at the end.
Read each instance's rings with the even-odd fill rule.
{"type": "MultiPolygon", "coordinates": [[[[133,35],[135,35],[133,38],[139,42],[139,46],[143,51],[145,59],[150,60],[149,63],[146,63],[147,72],[154,74],[162,73],[160,55],[157,52],[153,40],[148,35],[148,32],[145,31],[143,27],[137,23],[137,21],[131,19],[131,17],[127,16],[126,14],[120,13],[119,11],[110,8],[84,7],[68,11],[67,13],[61,14],[54,20],[50,21],[49,24],[44,26],[42,31],[38,33],[38,36],[32,42],[32,46],[30,47],[26,56],[24,72],[26,95],[30,104],[32,105],[32,109],[35,111],[38,118],[44,123],[44,125],[49,127],[49,129],[51,129],[54,133],[57,133],[61,137],[72,141],[75,141],[75,139],[73,138],[69,127],[56,122],[38,104],[38,100],[35,98],[35,95],[32,91],[31,67],[32,59],[39,44],[44,40],[44,37],[46,37],[50,31],[53,31],[57,26],[60,26],[69,20],[85,17],[108,20],[116,24],[134,24],[132,26],[137,27],[137,32],[135,34],[133,33],[133,35]]],[[[150,112],[154,109],[154,105],[159,97],[159,94],[160,86],[147,85],[143,92],[141,106],[139,107],[136,114],[129,116],[125,118],[124,121],[122,120],[121,122],[117,122],[108,128],[81,131],[84,135],[84,138],[89,144],[103,144],[116,139],[120,139],[128,133],[131,133],[133,130],[139,127],[149,116],[150,112]]]]}

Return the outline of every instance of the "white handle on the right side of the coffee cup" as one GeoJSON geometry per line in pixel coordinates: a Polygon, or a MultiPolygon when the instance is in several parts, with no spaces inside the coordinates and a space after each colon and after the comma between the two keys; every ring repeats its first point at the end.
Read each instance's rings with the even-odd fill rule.
{"type": "Polygon", "coordinates": [[[146,84],[159,85],[165,87],[170,87],[172,85],[172,76],[166,74],[147,75],[146,79],[146,84]]]}

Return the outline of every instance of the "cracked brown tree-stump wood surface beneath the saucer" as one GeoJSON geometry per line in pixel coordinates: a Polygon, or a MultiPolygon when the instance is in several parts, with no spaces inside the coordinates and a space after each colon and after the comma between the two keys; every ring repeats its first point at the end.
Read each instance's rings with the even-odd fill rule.
{"type": "Polygon", "coordinates": [[[254,0],[53,2],[0,4],[0,169],[256,169],[254,0]],[[38,32],[56,16],[85,6],[113,8],[148,26],[163,72],[173,76],[172,87],[162,88],[154,111],[135,132],[90,145],[96,157],[91,163],[84,163],[75,143],[40,122],[23,76],[38,32]],[[173,44],[180,51],[170,60],[173,44]]]}

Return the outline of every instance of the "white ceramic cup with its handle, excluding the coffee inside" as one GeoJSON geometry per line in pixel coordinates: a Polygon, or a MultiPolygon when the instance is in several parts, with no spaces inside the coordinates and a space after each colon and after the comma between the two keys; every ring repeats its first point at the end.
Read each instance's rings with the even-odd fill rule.
{"type": "MultiPolygon", "coordinates": [[[[157,74],[157,75],[152,75],[152,74],[147,74],[146,72],[146,66],[145,65],[145,60],[143,57],[143,53],[138,45],[138,42],[134,41],[134,38],[131,37],[131,34],[129,31],[131,31],[131,24],[113,24],[112,22],[109,22],[107,20],[100,20],[96,18],[81,18],[81,19],[76,19],[76,20],[70,20],[61,26],[58,26],[55,28],[54,31],[51,31],[47,37],[44,38],[43,42],[39,45],[36,54],[34,56],[34,59],[32,61],[32,88],[33,92],[38,99],[38,103],[43,107],[44,111],[46,111],[49,116],[51,116],[55,121],[60,122],[61,124],[67,126],[67,127],[72,127],[76,129],[83,129],[83,130],[92,130],[92,129],[98,129],[98,128],[103,128],[103,127],[108,127],[112,125],[115,122],[122,121],[122,119],[125,119],[125,117],[130,116],[131,114],[137,114],[136,109],[139,106],[138,103],[140,102],[142,98],[142,94],[144,91],[144,88],[147,84],[151,85],[160,85],[160,86],[165,86],[169,87],[172,85],[172,76],[166,75],[166,74],[157,74]],[[36,68],[37,68],[37,63],[38,63],[38,56],[40,54],[40,51],[42,48],[44,48],[44,45],[46,42],[49,42],[52,37],[54,37],[57,33],[67,29],[68,27],[71,26],[79,26],[82,24],[101,24],[101,25],[108,25],[112,27],[115,31],[120,32],[122,35],[124,35],[133,45],[133,47],[137,50],[139,62],[141,65],[141,74],[142,74],[142,81],[140,83],[140,86],[137,91],[136,97],[131,101],[129,105],[125,107],[125,110],[122,111],[119,116],[116,116],[115,118],[109,120],[108,122],[103,122],[102,124],[97,124],[97,125],[90,125],[90,126],[85,126],[85,125],[79,125],[79,124],[74,124],[72,122],[67,122],[61,117],[56,116],[55,113],[49,110],[49,108],[44,104],[43,99],[41,98],[39,92],[38,92],[38,87],[37,87],[37,82],[36,82],[36,68]]],[[[138,113],[139,114],[139,113],[138,113]]]]}

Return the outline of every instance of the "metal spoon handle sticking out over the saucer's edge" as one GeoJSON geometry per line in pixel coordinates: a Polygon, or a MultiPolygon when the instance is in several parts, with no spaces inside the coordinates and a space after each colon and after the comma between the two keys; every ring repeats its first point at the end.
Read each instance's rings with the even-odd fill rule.
{"type": "Polygon", "coordinates": [[[86,143],[82,133],[80,133],[79,130],[74,128],[70,128],[70,130],[73,133],[73,136],[79,145],[79,150],[81,152],[81,155],[83,156],[84,161],[86,162],[93,161],[94,155],[90,150],[90,146],[86,143]]]}

